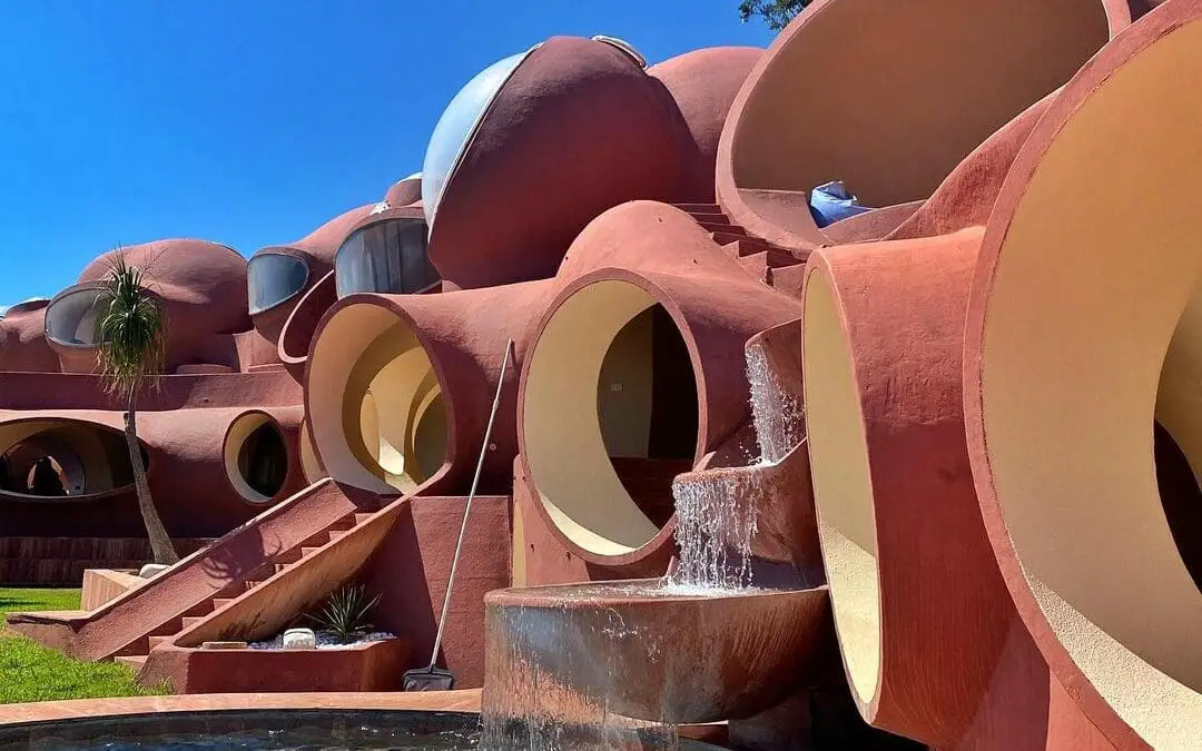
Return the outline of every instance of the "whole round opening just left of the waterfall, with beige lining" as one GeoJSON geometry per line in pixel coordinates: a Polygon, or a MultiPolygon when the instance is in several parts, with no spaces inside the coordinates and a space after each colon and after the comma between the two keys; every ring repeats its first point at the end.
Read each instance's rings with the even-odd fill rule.
{"type": "Polygon", "coordinates": [[[523,389],[526,460],[559,531],[605,556],[647,544],[697,451],[697,379],[668,312],[626,281],[582,287],[547,321],[523,389]]]}

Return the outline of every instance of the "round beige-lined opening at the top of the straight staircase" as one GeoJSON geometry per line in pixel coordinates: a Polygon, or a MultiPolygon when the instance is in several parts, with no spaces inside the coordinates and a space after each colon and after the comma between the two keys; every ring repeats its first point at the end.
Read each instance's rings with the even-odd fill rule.
{"type": "Polygon", "coordinates": [[[339,310],[315,345],[309,391],[313,435],[331,477],[412,493],[446,463],[441,383],[413,328],[394,312],[365,304],[339,310]]]}

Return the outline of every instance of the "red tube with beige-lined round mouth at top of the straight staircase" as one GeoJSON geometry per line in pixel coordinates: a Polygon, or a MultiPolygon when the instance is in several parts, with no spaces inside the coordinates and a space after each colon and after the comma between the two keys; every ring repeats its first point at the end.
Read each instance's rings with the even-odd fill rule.
{"type": "Polygon", "coordinates": [[[383,494],[466,491],[505,345],[481,488],[507,487],[517,372],[548,282],[445,294],[352,294],[317,327],[305,400],[316,455],[338,482],[383,494]]]}

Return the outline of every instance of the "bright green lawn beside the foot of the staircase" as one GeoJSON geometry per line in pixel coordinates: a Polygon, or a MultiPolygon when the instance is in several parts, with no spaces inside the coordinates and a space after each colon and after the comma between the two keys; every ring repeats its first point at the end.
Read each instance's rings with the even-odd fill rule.
{"type": "Polygon", "coordinates": [[[77,589],[0,589],[0,704],[162,693],[133,683],[133,670],[113,662],[79,662],[4,631],[4,614],[75,610],[77,589]]]}

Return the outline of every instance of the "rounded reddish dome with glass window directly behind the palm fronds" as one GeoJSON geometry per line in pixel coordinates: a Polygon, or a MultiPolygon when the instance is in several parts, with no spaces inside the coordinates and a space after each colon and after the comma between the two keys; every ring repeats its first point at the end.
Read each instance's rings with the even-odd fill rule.
{"type": "Polygon", "coordinates": [[[65,372],[96,369],[96,324],[103,312],[97,299],[118,254],[142,270],[162,310],[167,372],[182,364],[237,363],[231,334],[250,328],[246,260],[226,245],[171,239],[106,252],[54,296],[46,309],[46,340],[65,372]]]}

